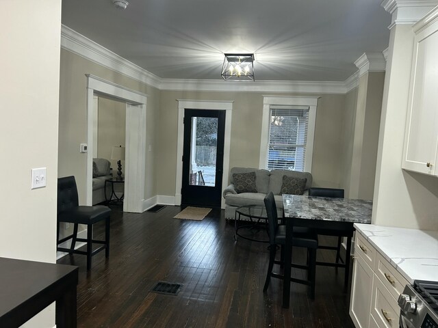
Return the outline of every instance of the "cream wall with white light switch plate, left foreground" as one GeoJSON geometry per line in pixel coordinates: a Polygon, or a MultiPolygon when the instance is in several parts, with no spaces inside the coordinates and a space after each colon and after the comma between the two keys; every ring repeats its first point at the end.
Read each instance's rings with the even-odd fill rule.
{"type": "MultiPolygon", "coordinates": [[[[0,256],[55,262],[61,1],[1,1],[0,256]],[[31,168],[47,187],[30,189],[31,168]]],[[[53,327],[54,306],[27,327],[53,327]]]]}

